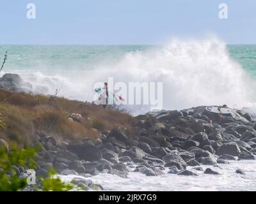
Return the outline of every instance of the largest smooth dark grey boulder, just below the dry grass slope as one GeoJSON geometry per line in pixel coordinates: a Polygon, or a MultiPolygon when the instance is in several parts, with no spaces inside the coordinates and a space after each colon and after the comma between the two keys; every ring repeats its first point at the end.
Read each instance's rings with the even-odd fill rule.
{"type": "Polygon", "coordinates": [[[71,143],[68,145],[68,150],[76,154],[79,159],[86,161],[97,161],[102,158],[100,150],[88,143],[71,143]]]}

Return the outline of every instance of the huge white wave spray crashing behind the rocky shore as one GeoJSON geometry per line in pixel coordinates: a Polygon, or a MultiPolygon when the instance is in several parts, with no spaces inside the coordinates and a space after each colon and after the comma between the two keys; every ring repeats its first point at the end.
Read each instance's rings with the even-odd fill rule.
{"type": "Polygon", "coordinates": [[[225,43],[217,38],[172,40],[160,48],[127,52],[113,62],[97,62],[93,69],[76,67],[73,71],[70,67],[58,74],[52,70],[54,74],[43,75],[41,67],[36,73],[19,74],[35,85],[35,91],[42,92],[40,85],[48,87],[47,94],[61,88],[60,96],[70,99],[92,101],[93,85],[113,77],[114,82],[125,84],[163,82],[163,108],[167,110],[198,105],[256,106],[255,82],[230,59],[225,43]]]}

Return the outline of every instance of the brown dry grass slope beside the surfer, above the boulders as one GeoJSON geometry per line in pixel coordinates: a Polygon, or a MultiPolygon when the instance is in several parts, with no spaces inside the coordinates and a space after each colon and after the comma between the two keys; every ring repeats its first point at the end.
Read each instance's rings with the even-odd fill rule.
{"type": "Polygon", "coordinates": [[[95,129],[103,131],[121,126],[132,131],[131,122],[134,119],[127,113],[104,110],[101,106],[65,98],[56,98],[51,110],[48,103],[47,96],[0,89],[0,114],[6,124],[6,129],[0,130],[0,138],[25,145],[33,141],[36,131],[52,135],[57,141],[96,139],[99,133],[95,129]],[[92,123],[88,120],[68,120],[72,113],[90,117],[92,123]]]}

